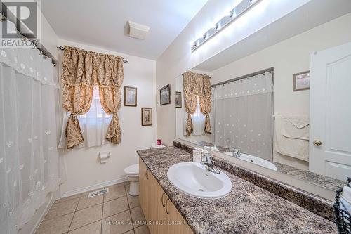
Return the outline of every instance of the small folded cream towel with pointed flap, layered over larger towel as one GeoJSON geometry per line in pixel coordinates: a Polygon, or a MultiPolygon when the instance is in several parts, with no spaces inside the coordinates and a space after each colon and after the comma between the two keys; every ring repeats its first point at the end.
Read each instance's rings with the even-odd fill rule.
{"type": "Polygon", "coordinates": [[[283,115],[282,121],[284,136],[308,141],[310,138],[310,117],[308,115],[283,115]]]}

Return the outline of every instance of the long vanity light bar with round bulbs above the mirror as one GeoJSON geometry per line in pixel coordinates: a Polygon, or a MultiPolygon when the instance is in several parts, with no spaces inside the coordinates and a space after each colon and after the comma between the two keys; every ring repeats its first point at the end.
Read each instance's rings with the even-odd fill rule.
{"type": "Polygon", "coordinates": [[[197,48],[203,45],[206,41],[211,39],[214,35],[218,34],[221,30],[223,30],[227,25],[230,25],[231,22],[239,18],[241,15],[249,11],[250,8],[255,6],[260,0],[243,0],[237,6],[235,6],[232,11],[228,12],[221,18],[216,24],[213,25],[207,32],[204,33],[203,37],[199,37],[192,44],[192,52],[194,52],[197,48]]]}

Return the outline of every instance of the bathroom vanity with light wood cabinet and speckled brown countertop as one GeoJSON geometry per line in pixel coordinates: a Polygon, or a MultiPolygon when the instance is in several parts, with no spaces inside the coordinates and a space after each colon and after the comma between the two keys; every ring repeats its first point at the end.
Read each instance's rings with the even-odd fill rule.
{"type": "Polygon", "coordinates": [[[227,196],[201,199],[180,192],[167,178],[173,164],[192,161],[192,155],[180,148],[139,150],[138,155],[139,199],[151,233],[337,233],[330,219],[223,168],[221,173],[232,182],[227,196]],[[162,225],[163,221],[173,225],[162,225]]]}

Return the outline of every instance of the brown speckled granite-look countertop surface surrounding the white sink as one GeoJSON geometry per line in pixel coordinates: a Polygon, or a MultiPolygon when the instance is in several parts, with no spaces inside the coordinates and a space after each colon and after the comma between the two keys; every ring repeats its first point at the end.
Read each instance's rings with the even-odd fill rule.
{"type": "Polygon", "coordinates": [[[194,233],[338,233],[333,222],[223,169],[232,181],[229,195],[216,200],[185,195],[167,178],[173,164],[192,161],[179,148],[138,150],[138,155],[194,233]]]}

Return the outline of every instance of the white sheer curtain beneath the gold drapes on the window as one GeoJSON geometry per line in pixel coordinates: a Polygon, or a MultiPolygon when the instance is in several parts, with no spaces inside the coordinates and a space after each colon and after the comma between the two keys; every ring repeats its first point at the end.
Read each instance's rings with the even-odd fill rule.
{"type": "MultiPolygon", "coordinates": [[[[69,114],[69,112],[63,113],[62,134],[58,146],[59,148],[67,148],[65,131],[69,114]]],[[[105,136],[111,118],[112,115],[107,115],[102,109],[99,98],[99,89],[98,87],[95,87],[93,90],[91,108],[85,115],[78,115],[78,121],[81,126],[81,134],[83,134],[84,142],[76,147],[93,147],[109,143],[110,141],[107,141],[105,136]]]]}

